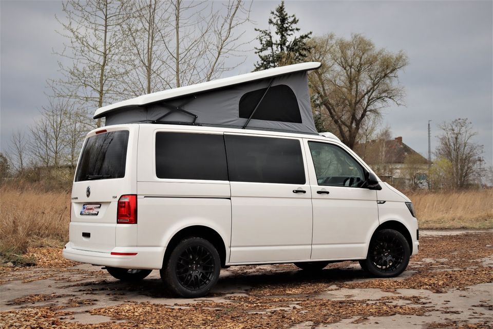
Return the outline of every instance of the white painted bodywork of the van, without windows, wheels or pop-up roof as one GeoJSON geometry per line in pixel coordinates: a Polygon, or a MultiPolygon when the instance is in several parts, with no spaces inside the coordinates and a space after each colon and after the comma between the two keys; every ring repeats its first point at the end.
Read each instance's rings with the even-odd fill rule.
{"type": "MultiPolygon", "coordinates": [[[[162,267],[166,247],[180,230],[205,226],[224,243],[225,265],[289,263],[366,258],[373,232],[383,223],[404,225],[418,251],[418,224],[402,193],[381,182],[382,190],[318,186],[308,141],[343,148],[371,169],[336,138],[219,127],[162,124],[107,126],[128,130],[123,178],[74,182],[70,242],[64,257],[124,268],[162,267]],[[299,140],[304,158],[304,185],[227,180],[161,179],[156,175],[157,132],[236,134],[299,140]],[[91,188],[86,197],[87,186],[91,188]],[[319,190],[330,194],[317,194],[319,190]],[[293,193],[305,190],[306,193],[293,193]],[[137,224],[116,223],[118,199],[137,195],[137,224]],[[377,205],[377,200],[385,203],[377,205]],[[97,216],[80,215],[83,204],[100,203],[97,216]],[[90,233],[90,237],[82,233],[90,233]],[[112,255],[137,253],[136,255],[112,255]]],[[[99,129],[101,130],[101,129],[99,129]]],[[[88,134],[94,136],[96,131],[88,134]]],[[[330,135],[328,135],[330,136],[330,135]]]]}

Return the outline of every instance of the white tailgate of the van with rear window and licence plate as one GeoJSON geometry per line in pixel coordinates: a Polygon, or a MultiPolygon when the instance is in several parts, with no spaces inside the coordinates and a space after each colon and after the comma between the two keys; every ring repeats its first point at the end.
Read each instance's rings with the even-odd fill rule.
{"type": "MultiPolygon", "coordinates": [[[[117,203],[136,194],[138,125],[110,126],[89,133],[72,186],[70,242],[73,248],[109,252],[116,246],[117,203]]],[[[136,225],[119,225],[136,231],[136,225]]],[[[130,233],[130,234],[128,234],[130,233]]],[[[120,246],[136,244],[136,234],[120,246]],[[132,237],[135,236],[135,237],[132,237]]]]}

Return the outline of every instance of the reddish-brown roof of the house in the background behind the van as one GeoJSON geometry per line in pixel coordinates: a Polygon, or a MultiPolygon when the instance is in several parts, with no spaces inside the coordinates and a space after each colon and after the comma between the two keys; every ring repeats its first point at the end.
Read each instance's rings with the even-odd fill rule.
{"type": "Polygon", "coordinates": [[[409,155],[416,155],[416,160],[419,163],[428,163],[428,159],[405,144],[402,141],[402,137],[396,137],[391,140],[377,139],[366,143],[358,143],[354,147],[354,152],[361,156],[369,165],[381,163],[382,160],[387,164],[404,163],[409,155]]]}

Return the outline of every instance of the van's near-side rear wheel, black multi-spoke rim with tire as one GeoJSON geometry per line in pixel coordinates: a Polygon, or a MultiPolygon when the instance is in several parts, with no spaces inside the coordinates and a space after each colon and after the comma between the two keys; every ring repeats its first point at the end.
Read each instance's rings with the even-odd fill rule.
{"type": "Polygon", "coordinates": [[[207,295],[219,279],[221,259],[212,243],[201,237],[182,240],[160,270],[172,293],[185,298],[207,295]]]}

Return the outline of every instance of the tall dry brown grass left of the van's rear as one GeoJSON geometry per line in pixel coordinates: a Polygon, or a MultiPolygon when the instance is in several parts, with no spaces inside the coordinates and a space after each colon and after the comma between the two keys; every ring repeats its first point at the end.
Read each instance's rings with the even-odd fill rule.
{"type": "Polygon", "coordinates": [[[70,194],[0,187],[0,254],[15,259],[32,246],[68,241],[70,194]]]}

